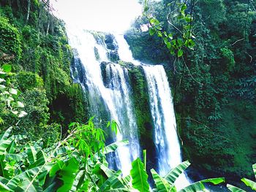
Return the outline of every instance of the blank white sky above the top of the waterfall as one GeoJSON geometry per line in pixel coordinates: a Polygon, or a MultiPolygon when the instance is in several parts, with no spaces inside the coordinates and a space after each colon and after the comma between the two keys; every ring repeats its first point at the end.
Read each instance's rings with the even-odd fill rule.
{"type": "Polygon", "coordinates": [[[51,0],[56,16],[68,25],[94,31],[127,30],[142,7],[138,0],[51,0]]]}

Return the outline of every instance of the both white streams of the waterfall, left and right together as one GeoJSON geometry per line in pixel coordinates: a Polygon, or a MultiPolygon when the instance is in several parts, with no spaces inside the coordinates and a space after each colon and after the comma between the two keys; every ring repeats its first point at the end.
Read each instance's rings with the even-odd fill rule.
{"type": "MultiPolygon", "coordinates": [[[[113,135],[114,141],[129,139],[129,145],[119,147],[109,163],[110,167],[129,174],[131,163],[140,157],[138,126],[132,103],[129,73],[126,68],[110,62],[104,41],[95,39],[89,31],[67,28],[69,44],[74,48],[75,62],[72,78],[88,93],[90,115],[106,116],[116,120],[121,131],[113,135]],[[95,52],[97,50],[97,54],[95,52]],[[102,65],[105,77],[102,77],[102,65]]],[[[151,118],[154,123],[154,145],[157,151],[156,169],[165,176],[170,168],[181,163],[181,150],[176,132],[176,118],[165,69],[161,65],[141,64],[132,58],[129,45],[122,35],[114,35],[118,56],[122,61],[143,67],[148,84],[151,118]]],[[[110,120],[108,119],[108,120],[110,120]]],[[[177,188],[188,185],[185,175],[177,181],[177,188]]]]}

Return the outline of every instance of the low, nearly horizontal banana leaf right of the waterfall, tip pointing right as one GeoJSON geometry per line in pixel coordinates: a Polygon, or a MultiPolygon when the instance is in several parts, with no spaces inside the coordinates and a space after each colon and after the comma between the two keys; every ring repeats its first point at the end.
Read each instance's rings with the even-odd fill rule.
{"type": "Polygon", "coordinates": [[[203,185],[203,183],[213,183],[214,185],[217,185],[217,184],[223,183],[223,182],[225,182],[225,178],[223,178],[223,177],[200,180],[196,183],[192,183],[191,185],[187,186],[186,188],[181,189],[179,192],[204,191],[206,188],[203,185]]]}

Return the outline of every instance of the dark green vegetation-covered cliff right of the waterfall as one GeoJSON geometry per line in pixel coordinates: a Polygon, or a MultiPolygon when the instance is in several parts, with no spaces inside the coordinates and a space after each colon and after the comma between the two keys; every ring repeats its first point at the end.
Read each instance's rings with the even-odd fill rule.
{"type": "Polygon", "coordinates": [[[136,20],[126,39],[135,58],[165,64],[184,157],[237,183],[252,177],[256,155],[255,2],[175,2],[148,1],[150,17],[136,20]]]}

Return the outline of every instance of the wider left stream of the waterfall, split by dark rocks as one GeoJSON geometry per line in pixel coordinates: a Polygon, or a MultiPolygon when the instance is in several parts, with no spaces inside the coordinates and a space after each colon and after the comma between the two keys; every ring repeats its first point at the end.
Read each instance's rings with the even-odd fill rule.
{"type": "Polygon", "coordinates": [[[72,31],[72,28],[67,28],[67,34],[75,55],[75,64],[71,68],[72,77],[89,93],[91,115],[101,118],[106,112],[109,113],[109,118],[116,120],[121,129],[116,136],[113,135],[113,141],[129,139],[129,145],[118,147],[113,157],[115,162],[110,161],[110,166],[117,166],[127,175],[132,161],[140,156],[127,69],[110,63],[105,43],[97,42],[89,31],[77,28],[72,31]],[[102,78],[102,64],[105,67],[107,82],[102,78]]]}

